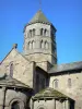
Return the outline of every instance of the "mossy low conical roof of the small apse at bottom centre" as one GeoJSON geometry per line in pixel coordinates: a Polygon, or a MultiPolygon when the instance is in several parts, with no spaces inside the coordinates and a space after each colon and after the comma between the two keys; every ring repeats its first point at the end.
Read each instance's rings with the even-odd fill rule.
{"type": "Polygon", "coordinates": [[[69,97],[54,88],[47,87],[46,89],[43,89],[35,96],[33,96],[33,99],[42,99],[42,98],[69,98],[69,97]]]}

